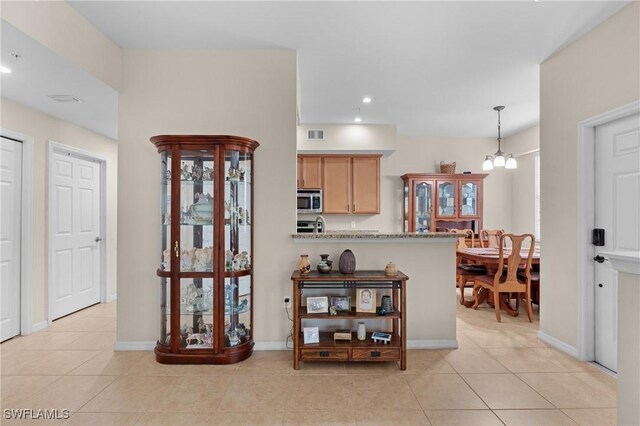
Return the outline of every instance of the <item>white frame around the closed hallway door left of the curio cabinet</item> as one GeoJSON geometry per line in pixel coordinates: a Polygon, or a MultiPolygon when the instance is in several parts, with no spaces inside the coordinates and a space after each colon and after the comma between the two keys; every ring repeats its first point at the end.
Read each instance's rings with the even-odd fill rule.
{"type": "Polygon", "coordinates": [[[100,234],[102,234],[102,250],[100,252],[100,303],[108,302],[107,287],[109,282],[109,246],[107,226],[107,159],[101,155],[90,151],[85,151],[69,145],[64,145],[48,140],[47,155],[47,321],[49,325],[53,323],[53,271],[52,271],[52,241],[53,241],[53,215],[51,214],[53,205],[53,154],[68,154],[74,158],[96,162],[100,165],[100,234]]]}

